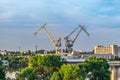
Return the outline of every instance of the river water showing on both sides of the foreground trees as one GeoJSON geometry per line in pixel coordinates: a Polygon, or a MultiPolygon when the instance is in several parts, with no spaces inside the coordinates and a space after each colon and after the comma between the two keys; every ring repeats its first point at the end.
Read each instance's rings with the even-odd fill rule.
{"type": "MultiPolygon", "coordinates": [[[[111,66],[111,80],[120,80],[120,66],[111,66]]],[[[15,79],[16,78],[16,70],[9,69],[6,74],[6,78],[15,79]]]]}

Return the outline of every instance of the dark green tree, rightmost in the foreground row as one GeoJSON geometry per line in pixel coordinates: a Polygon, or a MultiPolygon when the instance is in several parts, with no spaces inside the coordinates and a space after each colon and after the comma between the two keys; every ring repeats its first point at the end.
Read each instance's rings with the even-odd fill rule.
{"type": "Polygon", "coordinates": [[[110,80],[109,64],[105,59],[91,57],[83,64],[86,65],[90,80],[110,80]]]}

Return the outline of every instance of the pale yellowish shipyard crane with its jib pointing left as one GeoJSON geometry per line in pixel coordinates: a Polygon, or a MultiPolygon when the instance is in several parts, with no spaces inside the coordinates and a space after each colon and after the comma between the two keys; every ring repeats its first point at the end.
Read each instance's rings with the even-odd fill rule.
{"type": "Polygon", "coordinates": [[[61,39],[63,39],[63,37],[61,35],[57,34],[56,32],[54,32],[54,34],[57,36],[58,39],[57,40],[53,39],[53,37],[50,35],[48,30],[46,29],[46,26],[47,26],[47,24],[41,25],[34,34],[37,35],[41,29],[44,29],[46,35],[48,36],[49,40],[52,42],[52,44],[54,45],[54,47],[56,49],[56,54],[58,54],[60,52],[61,39]]]}

